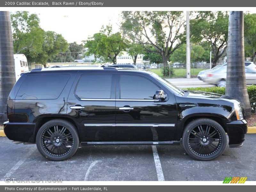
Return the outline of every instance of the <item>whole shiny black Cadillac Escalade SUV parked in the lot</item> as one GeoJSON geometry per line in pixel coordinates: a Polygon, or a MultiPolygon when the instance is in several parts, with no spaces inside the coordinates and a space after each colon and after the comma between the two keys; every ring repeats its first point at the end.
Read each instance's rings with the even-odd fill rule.
{"type": "Polygon", "coordinates": [[[180,145],[197,160],[241,147],[247,122],[241,103],[185,91],[142,69],[34,69],[14,85],[4,132],[36,143],[47,159],[70,158],[81,145],[180,145]]]}

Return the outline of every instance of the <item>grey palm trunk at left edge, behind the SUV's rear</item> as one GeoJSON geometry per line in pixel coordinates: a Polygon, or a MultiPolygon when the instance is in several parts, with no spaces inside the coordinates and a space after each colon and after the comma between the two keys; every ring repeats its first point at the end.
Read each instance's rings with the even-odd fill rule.
{"type": "Polygon", "coordinates": [[[7,120],[6,105],[15,83],[10,13],[0,11],[0,124],[7,120]]]}

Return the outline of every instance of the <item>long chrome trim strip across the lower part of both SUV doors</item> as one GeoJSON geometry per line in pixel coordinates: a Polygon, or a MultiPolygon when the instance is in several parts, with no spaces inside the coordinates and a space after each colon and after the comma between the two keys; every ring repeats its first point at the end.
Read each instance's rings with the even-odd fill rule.
{"type": "Polygon", "coordinates": [[[100,127],[100,126],[109,126],[109,127],[174,127],[175,124],[84,124],[84,126],[94,126],[94,127],[100,127]]]}

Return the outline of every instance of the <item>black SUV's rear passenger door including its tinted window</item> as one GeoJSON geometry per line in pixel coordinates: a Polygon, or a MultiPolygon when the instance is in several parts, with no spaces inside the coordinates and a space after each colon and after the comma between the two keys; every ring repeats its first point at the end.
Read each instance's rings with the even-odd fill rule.
{"type": "Polygon", "coordinates": [[[80,72],[77,76],[78,83],[71,89],[67,110],[78,122],[81,142],[115,140],[115,73],[80,72]]]}

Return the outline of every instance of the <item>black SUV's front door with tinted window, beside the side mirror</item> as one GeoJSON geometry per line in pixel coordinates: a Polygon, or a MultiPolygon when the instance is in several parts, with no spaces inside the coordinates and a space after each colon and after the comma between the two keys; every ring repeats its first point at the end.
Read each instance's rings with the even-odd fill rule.
{"type": "Polygon", "coordinates": [[[151,80],[122,74],[117,79],[116,140],[173,140],[177,121],[174,95],[169,93],[164,102],[156,102],[154,94],[161,87],[151,80]]]}

